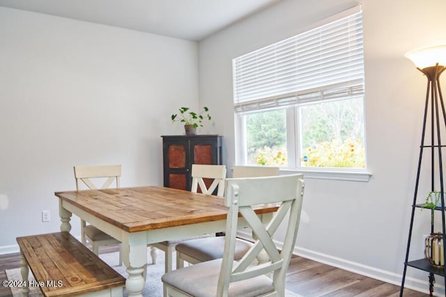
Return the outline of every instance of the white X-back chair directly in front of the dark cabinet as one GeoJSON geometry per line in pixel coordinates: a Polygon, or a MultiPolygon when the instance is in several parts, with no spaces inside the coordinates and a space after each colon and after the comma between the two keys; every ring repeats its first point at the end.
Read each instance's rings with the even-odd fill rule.
{"type": "MultiPolygon", "coordinates": [[[[217,191],[217,196],[224,195],[224,179],[226,179],[225,165],[199,165],[192,164],[192,192],[201,192],[203,194],[212,195],[217,191]]],[[[210,236],[209,234],[203,236],[210,236]]],[[[197,237],[203,237],[197,236],[197,237]]],[[[192,239],[191,239],[192,240],[192,239]]],[[[153,243],[152,246],[164,251],[165,271],[171,271],[173,266],[173,254],[175,247],[183,240],[163,241],[153,243]]]]}

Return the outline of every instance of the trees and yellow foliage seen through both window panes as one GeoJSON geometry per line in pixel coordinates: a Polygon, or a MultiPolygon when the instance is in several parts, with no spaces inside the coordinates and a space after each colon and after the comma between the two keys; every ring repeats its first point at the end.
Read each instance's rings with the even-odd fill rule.
{"type": "MultiPolygon", "coordinates": [[[[291,121],[294,131],[300,131],[296,166],[365,168],[362,109],[361,97],[298,106],[291,121]]],[[[286,109],[247,113],[244,118],[247,164],[293,166],[287,152],[286,109]]]]}

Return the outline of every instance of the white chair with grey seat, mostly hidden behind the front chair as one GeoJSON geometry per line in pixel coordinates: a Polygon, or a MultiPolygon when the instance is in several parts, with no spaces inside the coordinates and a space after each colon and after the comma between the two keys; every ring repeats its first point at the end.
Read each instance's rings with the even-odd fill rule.
{"type": "MultiPolygon", "coordinates": [[[[269,177],[279,175],[279,167],[233,166],[233,177],[269,177]]],[[[236,239],[235,259],[241,259],[252,243],[245,239],[236,239]]],[[[224,236],[191,239],[178,243],[176,249],[176,267],[184,267],[184,262],[197,264],[220,259],[224,253],[224,236]]]]}

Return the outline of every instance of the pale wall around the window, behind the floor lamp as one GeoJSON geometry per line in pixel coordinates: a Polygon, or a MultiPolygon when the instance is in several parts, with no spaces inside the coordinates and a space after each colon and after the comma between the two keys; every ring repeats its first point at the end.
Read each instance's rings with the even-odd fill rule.
{"type": "MultiPolygon", "coordinates": [[[[446,43],[446,2],[361,2],[367,161],[373,176],[369,182],[307,179],[306,219],[296,252],[401,284],[426,88],[422,73],[403,54],[446,43]]],[[[199,43],[200,104],[220,111],[214,114],[215,130],[224,135],[227,166],[235,160],[231,60],[356,4],[285,0],[199,43]]],[[[427,186],[424,180],[422,188],[427,186]]],[[[429,212],[416,214],[411,259],[423,257],[423,234],[429,233],[429,212]]],[[[408,268],[406,284],[426,291],[426,280],[426,273],[408,268]]],[[[442,282],[437,278],[436,286],[442,282]]]]}

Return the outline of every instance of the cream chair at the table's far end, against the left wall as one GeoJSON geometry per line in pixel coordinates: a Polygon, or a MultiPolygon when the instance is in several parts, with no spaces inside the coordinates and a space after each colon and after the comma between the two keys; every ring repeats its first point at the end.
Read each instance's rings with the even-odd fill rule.
{"type": "MultiPolygon", "coordinates": [[[[74,166],[76,178],[76,190],[82,189],[84,184],[89,189],[109,188],[113,183],[116,188],[120,187],[121,165],[105,166],[74,166]],[[93,182],[93,179],[95,182],[93,182]],[[97,186],[96,184],[102,184],[97,186]]],[[[120,245],[119,246],[119,266],[122,265],[121,241],[114,239],[105,232],[102,232],[93,225],[89,225],[85,220],[81,220],[81,239],[84,245],[87,241],[91,243],[91,250],[95,255],[99,255],[100,246],[120,245]]]]}

